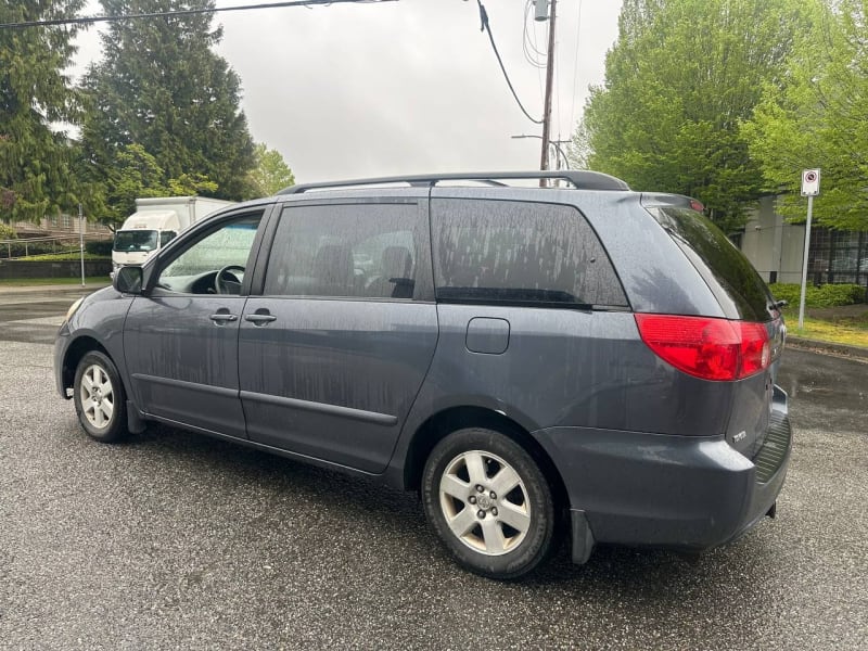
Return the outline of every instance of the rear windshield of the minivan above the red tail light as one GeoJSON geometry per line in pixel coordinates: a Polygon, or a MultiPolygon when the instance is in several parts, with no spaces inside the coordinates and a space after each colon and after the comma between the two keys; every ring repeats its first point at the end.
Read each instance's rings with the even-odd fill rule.
{"type": "Polygon", "coordinates": [[[773,318],[766,283],[719,228],[689,208],[658,206],[648,212],[687,254],[730,318],[773,318]]]}

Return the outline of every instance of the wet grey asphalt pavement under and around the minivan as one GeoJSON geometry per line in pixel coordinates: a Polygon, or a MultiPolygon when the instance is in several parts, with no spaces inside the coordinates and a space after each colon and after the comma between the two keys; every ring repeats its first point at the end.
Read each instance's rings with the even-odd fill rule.
{"type": "Polygon", "coordinates": [[[786,352],[776,520],[503,584],[414,495],[164,426],[91,442],[53,383],[68,298],[0,301],[0,649],[868,649],[865,361],[786,352]]]}

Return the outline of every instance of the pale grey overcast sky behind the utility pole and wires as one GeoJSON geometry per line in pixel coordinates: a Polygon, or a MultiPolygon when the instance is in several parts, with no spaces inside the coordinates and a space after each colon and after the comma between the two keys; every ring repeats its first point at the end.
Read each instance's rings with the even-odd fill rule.
{"type": "MultiPolygon", "coordinates": [[[[515,90],[540,118],[545,71],[523,53],[526,0],[484,4],[515,90]]],[[[588,85],[602,81],[620,10],[621,0],[559,0],[553,139],[571,137],[588,85]]],[[[100,13],[90,1],[85,14],[100,13]]],[[[283,154],[298,182],[539,166],[540,140],[510,138],[541,127],[512,99],[475,0],[252,10],[215,22],[254,139],[283,154]]],[[[545,50],[545,24],[527,24],[529,43],[545,50]]],[[[79,47],[80,72],[100,58],[97,29],[79,47]]]]}

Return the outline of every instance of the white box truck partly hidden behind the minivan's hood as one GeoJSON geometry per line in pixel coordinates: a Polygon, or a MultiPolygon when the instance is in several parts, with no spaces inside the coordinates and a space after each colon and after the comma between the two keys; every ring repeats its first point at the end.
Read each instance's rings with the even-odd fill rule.
{"type": "Polygon", "coordinates": [[[191,224],[232,203],[205,196],[137,199],[136,212],[115,231],[112,275],[124,265],[143,264],[191,224]]]}

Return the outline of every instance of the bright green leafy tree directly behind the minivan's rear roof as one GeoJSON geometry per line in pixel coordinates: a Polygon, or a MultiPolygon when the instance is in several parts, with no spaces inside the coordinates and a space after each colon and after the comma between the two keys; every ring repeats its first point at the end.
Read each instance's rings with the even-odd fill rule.
{"type": "MultiPolygon", "coordinates": [[[[810,0],[808,0],[810,1],[810,0]]],[[[740,129],[783,73],[802,24],[793,0],[625,0],[605,81],[574,151],[636,190],[695,196],[724,230],[744,221],[762,175],[740,129]]]]}

